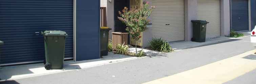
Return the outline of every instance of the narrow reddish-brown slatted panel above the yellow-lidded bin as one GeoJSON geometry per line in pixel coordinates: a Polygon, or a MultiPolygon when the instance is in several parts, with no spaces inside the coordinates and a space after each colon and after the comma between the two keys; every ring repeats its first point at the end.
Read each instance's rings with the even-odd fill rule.
{"type": "Polygon", "coordinates": [[[101,27],[107,27],[107,9],[106,7],[101,7],[101,27]]]}

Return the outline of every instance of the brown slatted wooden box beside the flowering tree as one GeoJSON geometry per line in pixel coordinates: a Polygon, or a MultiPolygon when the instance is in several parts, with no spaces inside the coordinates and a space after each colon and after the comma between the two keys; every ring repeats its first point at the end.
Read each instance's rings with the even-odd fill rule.
{"type": "Polygon", "coordinates": [[[113,50],[116,50],[116,44],[123,44],[127,45],[128,42],[128,33],[121,33],[121,32],[112,32],[112,41],[113,41],[113,50]]]}

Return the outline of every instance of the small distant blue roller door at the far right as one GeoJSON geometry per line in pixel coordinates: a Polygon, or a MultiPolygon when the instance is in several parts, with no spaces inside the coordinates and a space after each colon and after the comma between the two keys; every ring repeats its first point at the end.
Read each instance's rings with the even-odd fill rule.
{"type": "Polygon", "coordinates": [[[231,29],[249,30],[248,0],[231,0],[231,29]]]}

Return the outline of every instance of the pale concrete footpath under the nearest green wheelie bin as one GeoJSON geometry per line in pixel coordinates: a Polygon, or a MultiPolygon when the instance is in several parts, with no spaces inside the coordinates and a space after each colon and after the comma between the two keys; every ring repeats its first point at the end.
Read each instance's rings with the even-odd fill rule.
{"type": "Polygon", "coordinates": [[[125,61],[131,59],[137,59],[138,57],[132,57],[127,55],[120,55],[110,53],[108,56],[103,56],[100,59],[84,60],[84,61],[65,61],[64,68],[62,70],[45,70],[44,64],[29,64],[29,65],[17,65],[1,67],[0,79],[1,80],[14,80],[28,77],[35,77],[47,74],[60,73],[71,70],[79,70],[84,68],[90,68],[100,65],[110,64],[110,62],[125,61]]]}

